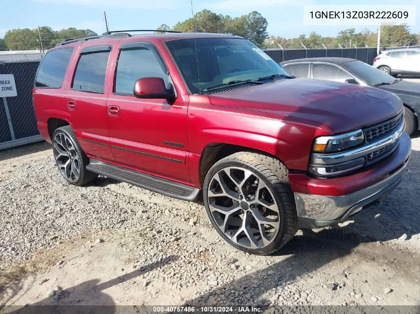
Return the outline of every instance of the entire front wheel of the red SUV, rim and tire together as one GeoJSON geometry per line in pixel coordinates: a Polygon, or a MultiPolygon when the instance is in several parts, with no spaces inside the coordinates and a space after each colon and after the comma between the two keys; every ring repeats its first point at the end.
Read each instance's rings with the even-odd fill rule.
{"type": "Polygon", "coordinates": [[[286,167],[277,159],[239,152],[218,161],[204,181],[207,214],[230,245],[266,255],[297,231],[297,214],[286,167]]]}

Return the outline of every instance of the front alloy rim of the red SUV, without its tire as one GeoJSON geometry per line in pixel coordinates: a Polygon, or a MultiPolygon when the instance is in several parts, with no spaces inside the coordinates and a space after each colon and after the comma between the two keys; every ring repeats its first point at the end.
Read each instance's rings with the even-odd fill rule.
{"type": "Polygon", "coordinates": [[[232,242],[261,249],[280,228],[279,208],[267,185],[252,171],[240,167],[219,170],[208,188],[210,213],[232,242]]]}

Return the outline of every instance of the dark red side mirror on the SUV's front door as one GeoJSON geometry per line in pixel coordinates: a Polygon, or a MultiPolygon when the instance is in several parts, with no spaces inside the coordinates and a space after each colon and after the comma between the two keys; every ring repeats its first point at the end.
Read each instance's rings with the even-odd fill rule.
{"type": "Polygon", "coordinates": [[[134,96],[137,98],[175,99],[172,89],[167,89],[162,77],[143,77],[134,84],[134,96]]]}

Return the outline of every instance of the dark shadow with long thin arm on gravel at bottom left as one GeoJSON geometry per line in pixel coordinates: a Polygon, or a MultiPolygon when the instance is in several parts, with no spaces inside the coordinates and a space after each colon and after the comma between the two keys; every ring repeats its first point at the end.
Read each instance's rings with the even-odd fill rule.
{"type": "MultiPolygon", "coordinates": [[[[106,282],[99,283],[99,279],[85,281],[77,286],[62,290],[60,301],[55,300],[54,296],[47,297],[39,302],[30,305],[4,306],[0,307],[0,313],[8,314],[82,314],[82,313],[100,313],[111,314],[118,313],[113,299],[104,290],[141,276],[153,269],[163,267],[178,259],[177,255],[170,255],[156,262],[144,265],[130,273],[118,276],[106,282]],[[59,303],[58,303],[59,302],[59,303]],[[2,311],[3,310],[3,311],[2,311]]],[[[11,288],[10,288],[11,289],[11,288]]],[[[9,298],[10,300],[10,298],[9,298]]],[[[2,301],[5,303],[7,301],[2,301]]],[[[127,307],[128,308],[128,307],[127,307]]]]}

